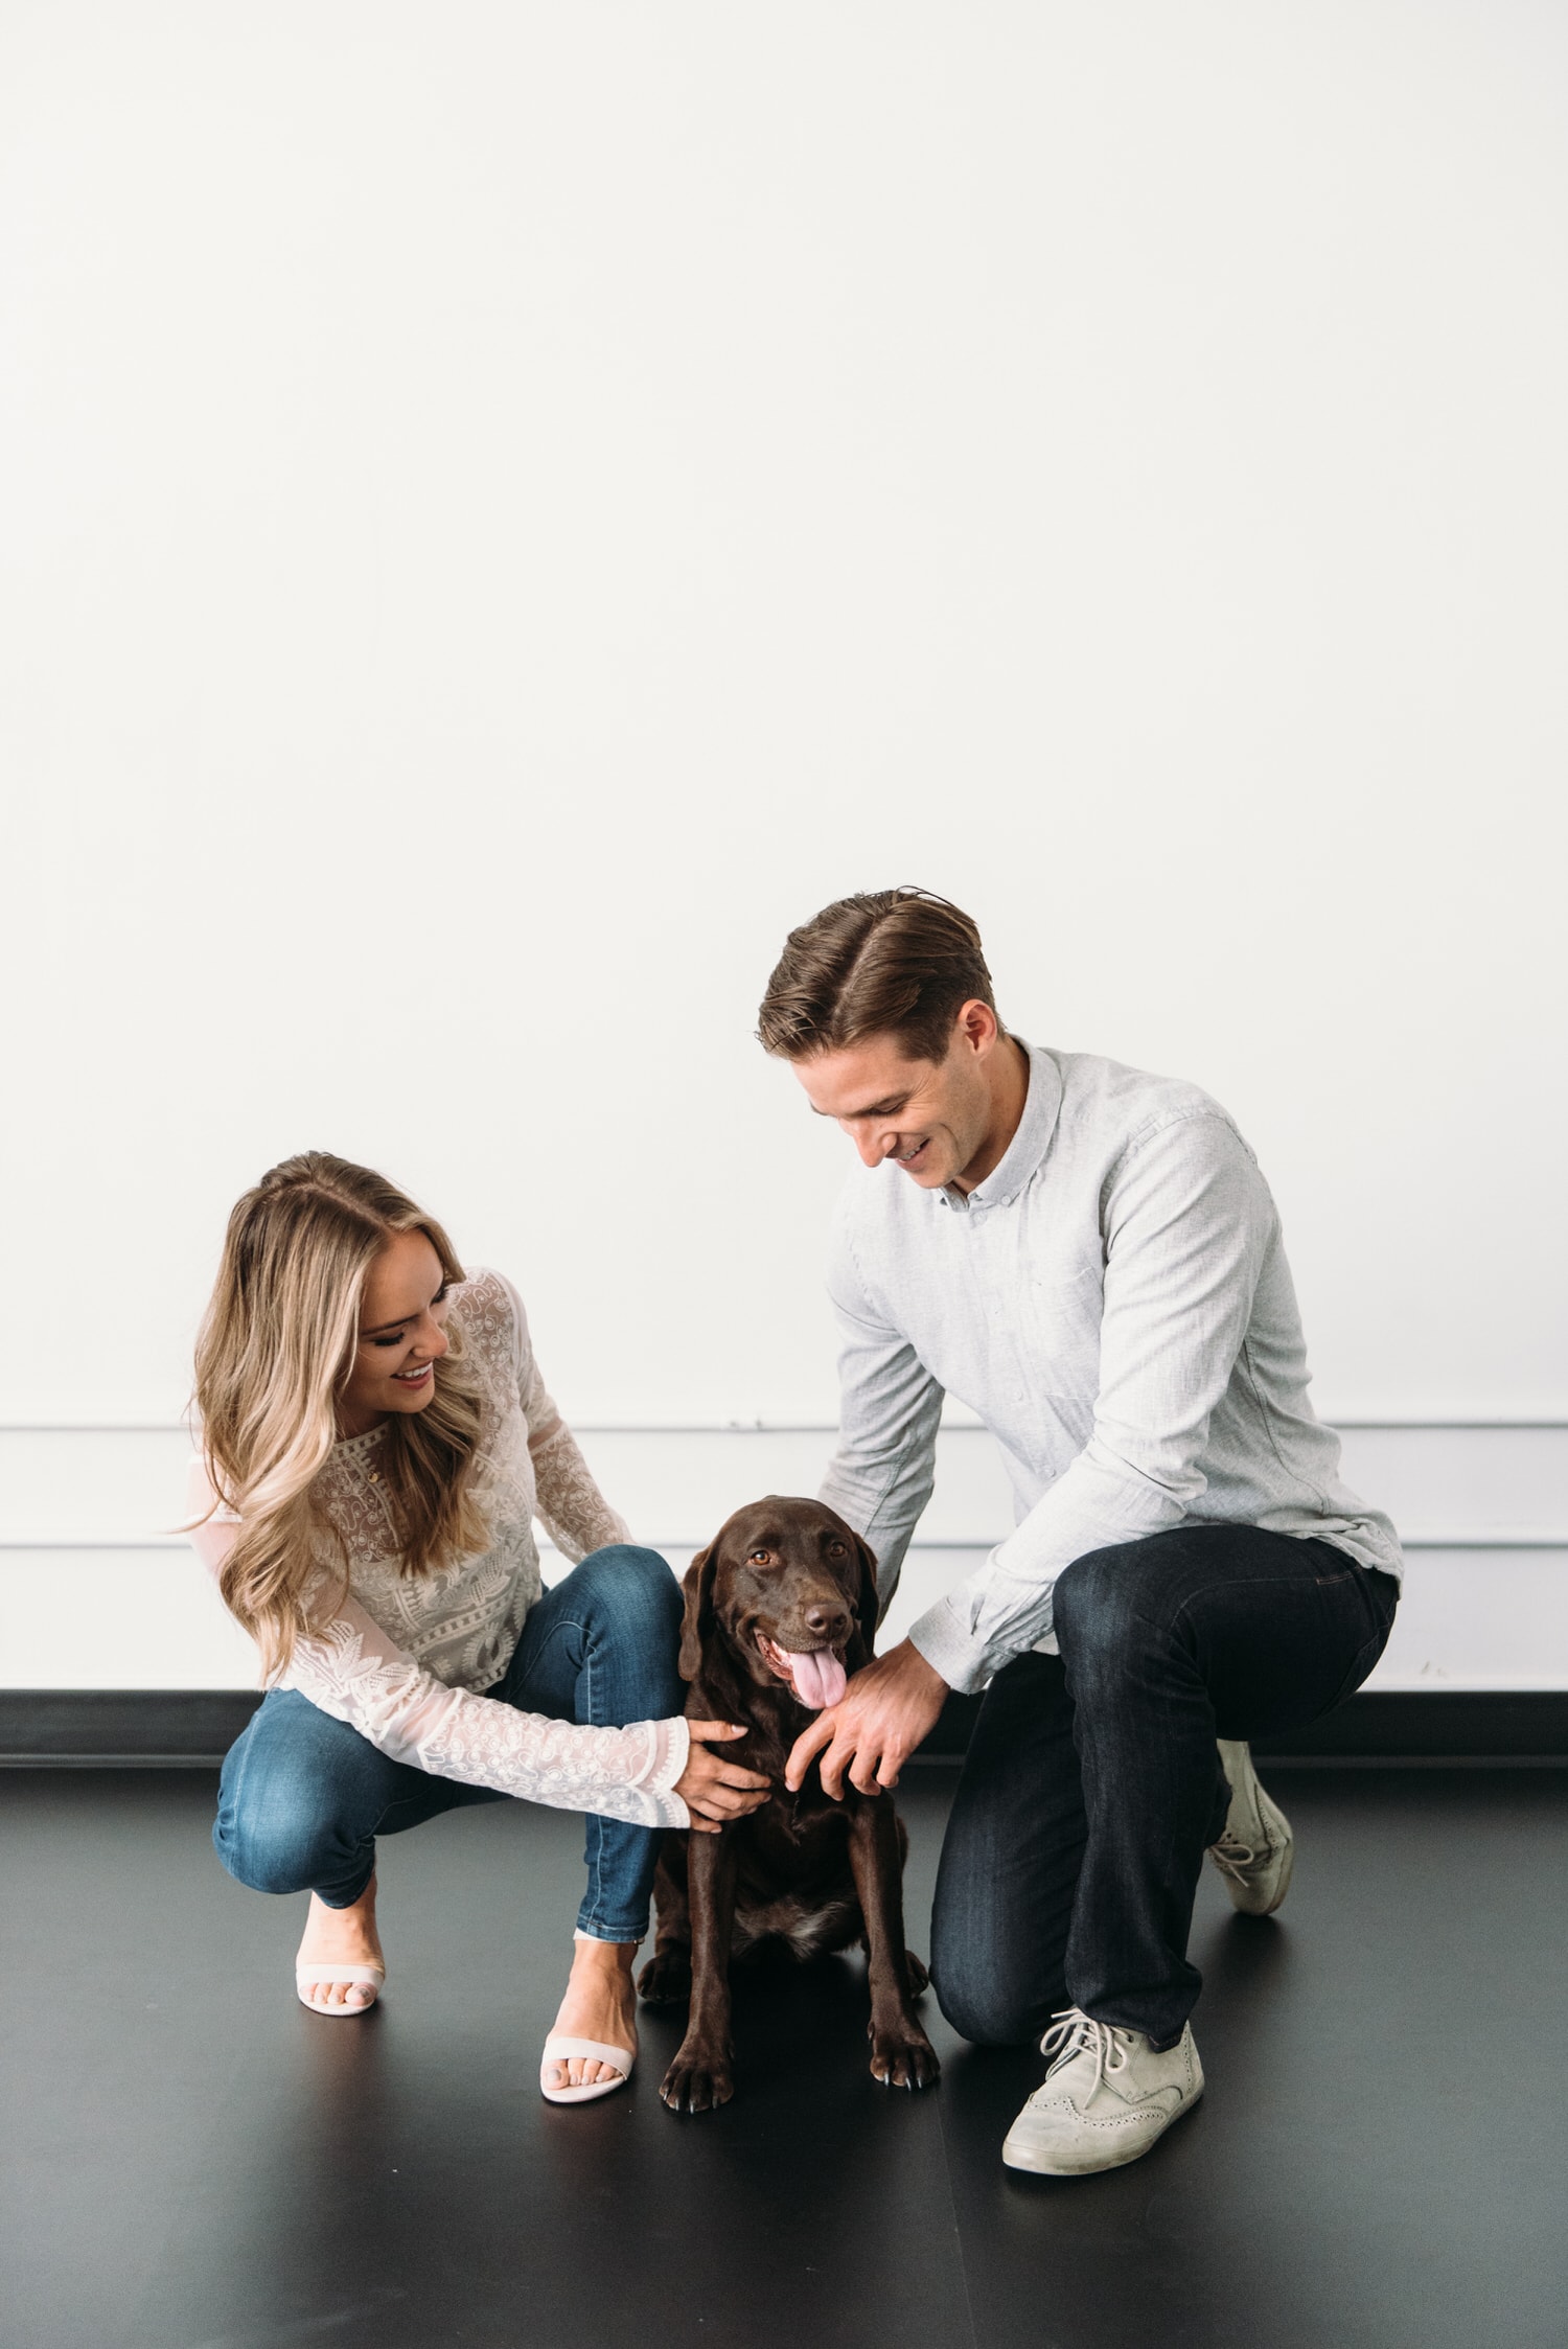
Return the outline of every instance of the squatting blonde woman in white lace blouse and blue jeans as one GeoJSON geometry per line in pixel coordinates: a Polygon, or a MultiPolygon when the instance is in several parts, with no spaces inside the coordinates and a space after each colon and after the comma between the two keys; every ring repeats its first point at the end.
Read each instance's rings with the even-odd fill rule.
{"type": "Polygon", "coordinates": [[[465,1276],[380,1174],[305,1151],[230,1217],[195,1402],[192,1539],[268,1682],[214,1842],[242,1884],[310,1891],[303,2004],[380,1992],[378,1832],[502,1795],[587,1811],[540,2088],[624,2086],[660,1830],[718,1832],[768,1781],[723,1759],[744,1731],[681,1717],[678,1586],[599,1494],[516,1290],[465,1276]],[[535,1513],[580,1560],[547,1593],[535,1513]]]}

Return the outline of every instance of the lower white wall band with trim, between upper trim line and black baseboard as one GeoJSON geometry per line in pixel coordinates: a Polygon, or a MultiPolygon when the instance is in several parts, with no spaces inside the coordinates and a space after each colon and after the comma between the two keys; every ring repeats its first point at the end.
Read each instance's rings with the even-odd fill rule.
{"type": "MultiPolygon", "coordinates": [[[[603,1489],[676,1571],[742,1501],[815,1492],[826,1428],[584,1428],[603,1489]]],[[[188,1445],[167,1431],[0,1431],[0,1684],[249,1689],[228,1618],[171,1501],[188,1445]]],[[[1406,1595],[1378,1689],[1568,1689],[1568,1426],[1345,1431],[1345,1473],[1394,1513],[1406,1595]]],[[[1012,1525],[991,1438],[955,1419],[883,1644],[1012,1525]]],[[[563,1560],[545,1555],[554,1581],[563,1560]]]]}

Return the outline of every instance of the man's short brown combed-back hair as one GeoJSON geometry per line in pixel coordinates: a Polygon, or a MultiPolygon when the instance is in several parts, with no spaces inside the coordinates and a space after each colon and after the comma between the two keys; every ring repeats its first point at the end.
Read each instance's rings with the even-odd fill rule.
{"type": "Polygon", "coordinates": [[[789,933],[768,980],[758,1038],[779,1059],[897,1036],[908,1059],[946,1059],[962,1003],[988,1003],[979,930],[925,888],[878,888],[826,904],[789,933]]]}

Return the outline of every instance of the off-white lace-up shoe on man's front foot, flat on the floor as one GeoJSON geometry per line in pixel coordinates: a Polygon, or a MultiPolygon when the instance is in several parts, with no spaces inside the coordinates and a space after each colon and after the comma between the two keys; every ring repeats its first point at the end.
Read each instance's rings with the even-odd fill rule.
{"type": "Polygon", "coordinates": [[[1143,2032],[1068,2006],[1052,2018],[1040,2051],[1056,2060],[1007,2131],[1002,2161],[1012,2170],[1115,2170],[1145,2154],[1204,2093],[1190,2022],[1174,2048],[1155,2053],[1143,2032]]]}

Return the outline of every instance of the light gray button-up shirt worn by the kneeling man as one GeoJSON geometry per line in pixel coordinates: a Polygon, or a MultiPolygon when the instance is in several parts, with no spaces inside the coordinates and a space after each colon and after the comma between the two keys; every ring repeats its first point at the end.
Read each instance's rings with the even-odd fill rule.
{"type": "MultiPolygon", "coordinates": [[[[1021,1038],[1019,1038],[1021,1041],[1021,1038]]],[[[822,1499],[878,1553],[883,1604],[932,1496],[944,1391],[995,1435],[1016,1529],[920,1616],[953,1689],[1054,1651],[1075,1557],[1176,1525],[1314,1536],[1401,1576],[1307,1402],[1279,1212],[1197,1085],[1026,1045],[1023,1118],[969,1196],[859,1167],[833,1226],[840,1438],[822,1499]]]]}

